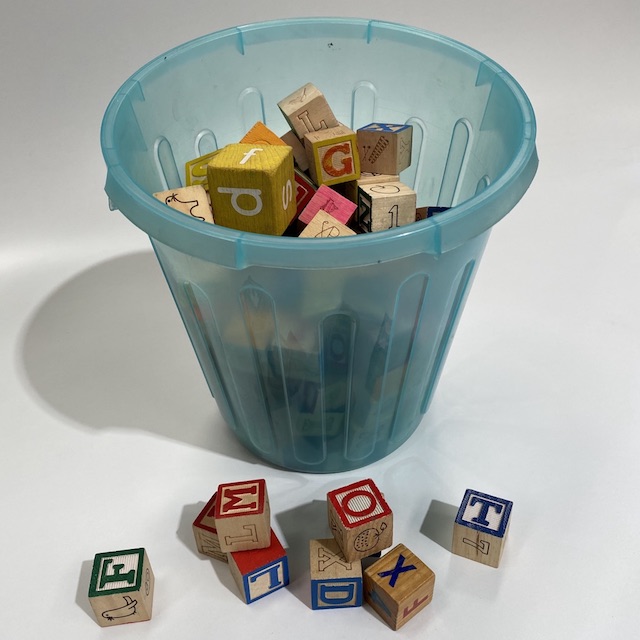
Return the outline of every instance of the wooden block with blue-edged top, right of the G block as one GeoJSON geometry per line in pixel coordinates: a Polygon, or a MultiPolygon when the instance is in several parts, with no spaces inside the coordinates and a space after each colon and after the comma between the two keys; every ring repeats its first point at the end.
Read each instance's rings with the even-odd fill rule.
{"type": "Polygon", "coordinates": [[[358,129],[357,134],[362,171],[400,173],[411,164],[410,124],[372,122],[358,129]]]}

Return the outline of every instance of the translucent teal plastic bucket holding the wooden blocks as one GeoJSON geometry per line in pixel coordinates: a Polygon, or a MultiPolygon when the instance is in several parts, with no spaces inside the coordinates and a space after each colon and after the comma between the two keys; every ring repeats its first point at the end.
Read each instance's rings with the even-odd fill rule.
{"type": "Polygon", "coordinates": [[[442,36],[360,19],[253,24],[176,47],[114,96],[102,149],[112,208],[150,236],[230,428],[262,459],[308,472],[369,464],[414,432],[490,229],[538,164],[531,105],[504,69],[442,36]],[[452,208],[317,240],[211,225],[152,197],[257,120],[284,133],[277,102],[307,82],[353,129],[413,125],[401,180],[418,206],[452,208]]]}

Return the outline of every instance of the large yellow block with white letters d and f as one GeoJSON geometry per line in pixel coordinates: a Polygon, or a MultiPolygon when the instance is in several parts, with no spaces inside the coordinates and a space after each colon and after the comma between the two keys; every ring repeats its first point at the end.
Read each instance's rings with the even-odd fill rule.
{"type": "Polygon", "coordinates": [[[282,235],[295,217],[291,147],[230,144],[214,154],[207,171],[216,224],[282,235]]]}

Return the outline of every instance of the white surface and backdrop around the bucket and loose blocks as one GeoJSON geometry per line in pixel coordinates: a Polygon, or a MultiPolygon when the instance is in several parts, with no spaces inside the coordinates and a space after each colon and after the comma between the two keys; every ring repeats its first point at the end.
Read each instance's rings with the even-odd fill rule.
{"type": "Polygon", "coordinates": [[[640,624],[640,16],[635,0],[11,3],[0,23],[0,603],[3,638],[389,637],[316,612],[326,492],[373,477],[395,540],[436,573],[398,635],[630,638],[640,624]],[[108,100],[144,62],[235,24],[305,14],[412,23],[504,65],[540,169],[495,228],[421,428],[334,476],[265,467],[224,427],[147,238],[103,193],[108,100]],[[292,584],[243,604],[191,522],[222,481],[265,477],[292,584]],[[513,500],[498,570],[452,556],[467,487],[513,500]],[[144,546],[154,618],[101,630],[101,551],[144,546]],[[234,633],[229,636],[229,633],[234,633]]]}

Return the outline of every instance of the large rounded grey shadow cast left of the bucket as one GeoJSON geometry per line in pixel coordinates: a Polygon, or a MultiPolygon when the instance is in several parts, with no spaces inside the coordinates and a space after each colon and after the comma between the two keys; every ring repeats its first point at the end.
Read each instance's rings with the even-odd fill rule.
{"type": "Polygon", "coordinates": [[[21,347],[28,386],[47,410],[257,462],[220,416],[152,252],[65,282],[31,317],[21,347]]]}

